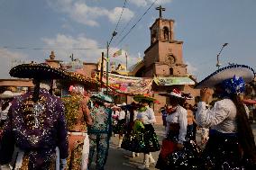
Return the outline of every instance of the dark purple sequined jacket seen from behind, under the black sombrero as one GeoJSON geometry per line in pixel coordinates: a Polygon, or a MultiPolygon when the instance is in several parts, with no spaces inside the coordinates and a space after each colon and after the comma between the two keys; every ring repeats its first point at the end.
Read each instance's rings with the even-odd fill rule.
{"type": "Polygon", "coordinates": [[[25,153],[59,147],[59,157],[68,157],[63,104],[46,89],[40,89],[36,103],[32,101],[32,94],[29,92],[17,97],[10,107],[1,141],[1,165],[12,160],[14,145],[25,153]]]}

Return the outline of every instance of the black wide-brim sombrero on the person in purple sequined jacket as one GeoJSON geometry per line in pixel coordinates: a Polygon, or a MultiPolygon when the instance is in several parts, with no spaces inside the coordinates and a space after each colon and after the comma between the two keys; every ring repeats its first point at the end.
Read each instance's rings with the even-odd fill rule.
{"type": "Polygon", "coordinates": [[[65,78],[65,71],[50,67],[46,63],[41,64],[22,64],[13,67],[10,72],[10,76],[19,78],[36,78],[36,79],[60,79],[65,78]]]}

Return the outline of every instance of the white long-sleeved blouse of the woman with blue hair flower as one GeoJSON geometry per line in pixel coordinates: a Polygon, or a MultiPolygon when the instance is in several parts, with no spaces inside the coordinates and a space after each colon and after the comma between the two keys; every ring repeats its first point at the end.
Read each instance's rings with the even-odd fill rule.
{"type": "Polygon", "coordinates": [[[206,109],[206,103],[197,104],[197,124],[222,133],[234,133],[236,126],[236,107],[232,100],[223,99],[215,103],[211,110],[206,109]]]}

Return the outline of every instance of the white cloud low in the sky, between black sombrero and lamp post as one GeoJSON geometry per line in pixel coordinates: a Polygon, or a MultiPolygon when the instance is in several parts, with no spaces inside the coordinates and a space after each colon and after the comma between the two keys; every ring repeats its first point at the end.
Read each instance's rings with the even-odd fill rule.
{"type": "Polygon", "coordinates": [[[69,60],[69,56],[73,53],[74,58],[79,58],[85,62],[96,62],[101,56],[101,52],[105,49],[97,49],[96,40],[88,39],[84,35],[77,38],[64,34],[57,34],[53,39],[43,38],[46,48],[56,48],[56,59],[69,60]]]}

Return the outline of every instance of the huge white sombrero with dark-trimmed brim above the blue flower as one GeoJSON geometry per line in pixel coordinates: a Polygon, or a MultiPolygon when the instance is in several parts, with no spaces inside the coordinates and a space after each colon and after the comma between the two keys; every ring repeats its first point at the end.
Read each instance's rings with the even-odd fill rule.
{"type": "Polygon", "coordinates": [[[245,83],[249,83],[254,78],[254,70],[245,65],[231,65],[216,70],[210,76],[206,76],[201,82],[197,83],[194,88],[214,87],[224,80],[233,78],[233,76],[242,77],[245,83]]]}

